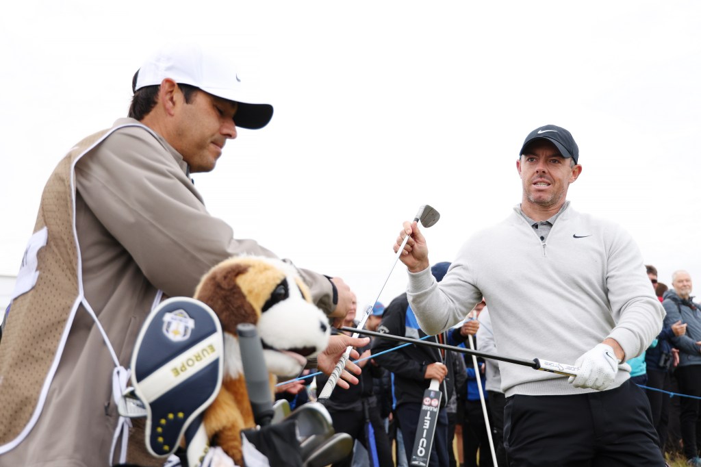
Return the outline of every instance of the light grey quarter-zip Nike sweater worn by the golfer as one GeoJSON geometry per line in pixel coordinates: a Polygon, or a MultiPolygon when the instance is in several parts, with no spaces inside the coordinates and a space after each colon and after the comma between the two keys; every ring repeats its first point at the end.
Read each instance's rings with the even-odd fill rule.
{"type": "MultiPolygon", "coordinates": [[[[665,317],[632,237],[569,204],[545,241],[516,205],[507,219],[463,245],[440,283],[430,269],[409,273],[407,295],[428,334],[463,320],[484,296],[501,355],[566,364],[606,337],[618,341],[626,360],[639,356],[665,317]]],[[[500,367],[507,396],[594,391],[523,365],[500,367]]],[[[618,372],[611,388],[628,378],[618,372]]]]}

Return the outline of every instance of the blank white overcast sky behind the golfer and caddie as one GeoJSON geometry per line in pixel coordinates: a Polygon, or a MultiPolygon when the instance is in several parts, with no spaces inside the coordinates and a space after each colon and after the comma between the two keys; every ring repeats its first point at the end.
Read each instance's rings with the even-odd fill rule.
{"type": "Polygon", "coordinates": [[[12,4],[0,15],[0,275],[17,273],[65,151],[125,116],[154,49],[196,41],[236,57],[275,107],[196,175],[210,212],[343,277],[360,309],[420,205],[442,215],[425,231],[432,262],[506,217],[521,198],[518,150],[547,123],[580,147],[573,206],[624,226],[662,282],[688,269],[701,284],[700,2],[12,4]]]}

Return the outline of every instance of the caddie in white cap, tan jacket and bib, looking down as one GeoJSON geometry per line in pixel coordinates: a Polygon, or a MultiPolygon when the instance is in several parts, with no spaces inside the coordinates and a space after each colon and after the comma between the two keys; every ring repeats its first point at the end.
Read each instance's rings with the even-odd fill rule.
{"type": "MultiPolygon", "coordinates": [[[[215,167],[237,126],[270,121],[273,107],[252,97],[249,84],[197,46],[162,48],[134,76],[130,118],[85,138],[57,165],[0,341],[3,466],[127,460],[132,421],[118,416],[116,402],[149,311],[164,296],[192,296],[201,276],[227,257],[274,256],[234,238],[190,178],[215,167]]],[[[343,280],[301,274],[315,304],[345,315],[351,290],[343,280]]],[[[338,357],[368,342],[338,339],[338,357]]],[[[347,372],[343,378],[357,383],[347,372]]],[[[128,461],[163,465],[146,452],[143,419],[133,423],[128,461]]]]}

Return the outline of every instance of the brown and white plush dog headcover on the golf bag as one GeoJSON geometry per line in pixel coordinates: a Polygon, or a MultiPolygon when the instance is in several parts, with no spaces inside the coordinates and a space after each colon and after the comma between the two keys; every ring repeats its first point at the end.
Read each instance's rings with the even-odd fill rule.
{"type": "Polygon", "coordinates": [[[328,319],[311,303],[297,269],[279,259],[226,259],[203,277],[195,298],[217,313],[224,331],[224,381],[217,400],[205,412],[207,435],[243,465],[240,431],[255,426],[255,421],[243,379],[237,325],[257,326],[272,396],[275,375],[296,376],[307,358],[326,348],[328,319]]]}

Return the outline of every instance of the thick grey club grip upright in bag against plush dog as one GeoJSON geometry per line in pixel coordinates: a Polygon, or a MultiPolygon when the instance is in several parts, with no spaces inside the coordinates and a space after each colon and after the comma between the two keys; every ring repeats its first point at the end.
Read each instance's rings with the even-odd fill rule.
{"type": "Polygon", "coordinates": [[[257,424],[264,426],[270,423],[275,412],[268,380],[268,367],[263,357],[263,344],[258,337],[256,327],[250,323],[241,323],[236,327],[236,331],[253,417],[257,424]]]}

